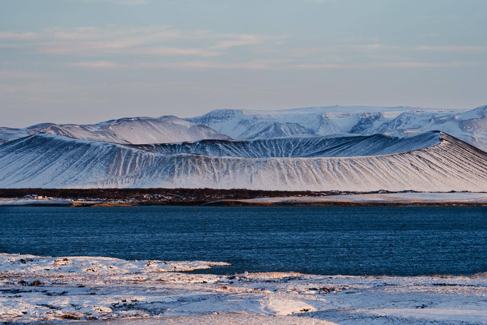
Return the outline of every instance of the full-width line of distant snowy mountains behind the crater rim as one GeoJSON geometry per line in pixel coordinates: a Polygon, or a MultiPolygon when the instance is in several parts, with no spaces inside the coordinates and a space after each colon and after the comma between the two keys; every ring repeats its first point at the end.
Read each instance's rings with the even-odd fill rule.
{"type": "Polygon", "coordinates": [[[92,125],[43,123],[23,129],[0,128],[0,144],[38,132],[151,144],[330,134],[411,136],[431,130],[440,130],[487,150],[487,105],[470,111],[407,106],[324,106],[276,111],[221,109],[184,119],[169,115],[121,118],[92,125]]]}

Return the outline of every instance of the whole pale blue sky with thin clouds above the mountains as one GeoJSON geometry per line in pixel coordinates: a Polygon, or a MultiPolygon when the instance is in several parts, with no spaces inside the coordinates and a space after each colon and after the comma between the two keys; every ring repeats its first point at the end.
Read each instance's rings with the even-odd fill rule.
{"type": "Polygon", "coordinates": [[[487,104],[485,0],[0,0],[0,126],[487,104]]]}

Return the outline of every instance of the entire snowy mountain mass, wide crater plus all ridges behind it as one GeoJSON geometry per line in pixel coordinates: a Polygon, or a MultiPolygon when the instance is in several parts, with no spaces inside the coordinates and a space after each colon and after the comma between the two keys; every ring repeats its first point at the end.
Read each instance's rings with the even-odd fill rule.
{"type": "Polygon", "coordinates": [[[487,106],[216,110],[0,128],[0,139],[0,188],[487,189],[487,106]]]}

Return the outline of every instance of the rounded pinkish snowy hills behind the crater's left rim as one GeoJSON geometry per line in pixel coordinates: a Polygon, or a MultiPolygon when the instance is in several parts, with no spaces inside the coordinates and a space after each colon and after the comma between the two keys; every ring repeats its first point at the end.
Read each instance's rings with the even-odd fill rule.
{"type": "Polygon", "coordinates": [[[24,129],[0,128],[0,143],[39,132],[115,143],[170,143],[202,139],[230,139],[206,126],[176,116],[135,117],[92,125],[43,123],[24,129]]]}

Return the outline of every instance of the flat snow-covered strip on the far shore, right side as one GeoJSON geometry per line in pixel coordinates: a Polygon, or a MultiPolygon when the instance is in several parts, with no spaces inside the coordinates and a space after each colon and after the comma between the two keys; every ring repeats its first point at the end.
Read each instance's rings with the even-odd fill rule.
{"type": "Polygon", "coordinates": [[[260,197],[255,199],[232,200],[248,203],[274,204],[326,204],[326,203],[378,203],[378,204],[487,204],[487,193],[370,193],[349,195],[327,195],[313,197],[260,197]]]}

